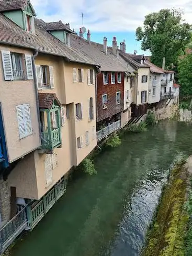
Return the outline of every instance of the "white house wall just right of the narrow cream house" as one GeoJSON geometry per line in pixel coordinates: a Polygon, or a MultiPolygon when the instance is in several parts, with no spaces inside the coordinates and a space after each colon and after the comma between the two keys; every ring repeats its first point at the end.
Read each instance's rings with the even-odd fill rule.
{"type": "Polygon", "coordinates": [[[148,103],[155,103],[160,101],[161,95],[161,74],[151,73],[151,80],[149,79],[149,97],[148,103]],[[156,75],[156,81],[154,81],[154,76],[156,75]],[[154,86],[155,85],[155,86],[154,86]],[[153,88],[155,88],[155,95],[153,95],[153,88]]]}

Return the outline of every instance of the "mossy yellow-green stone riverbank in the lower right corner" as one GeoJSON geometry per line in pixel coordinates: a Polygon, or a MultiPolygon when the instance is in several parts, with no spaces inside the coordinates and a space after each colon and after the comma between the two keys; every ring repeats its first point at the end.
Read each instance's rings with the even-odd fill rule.
{"type": "Polygon", "coordinates": [[[191,256],[191,173],[192,156],[172,169],[144,256],[191,256]]]}

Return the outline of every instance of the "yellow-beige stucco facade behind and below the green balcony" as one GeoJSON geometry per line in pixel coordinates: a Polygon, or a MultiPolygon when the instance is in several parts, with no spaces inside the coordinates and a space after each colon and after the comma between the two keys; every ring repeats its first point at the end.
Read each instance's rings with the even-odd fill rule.
{"type": "Polygon", "coordinates": [[[60,57],[46,54],[38,55],[35,62],[36,65],[53,67],[54,88],[42,89],[39,93],[55,93],[64,107],[65,121],[61,127],[61,146],[53,150],[57,161],[52,170],[51,183],[46,183],[46,153],[42,150],[36,150],[22,159],[8,176],[8,182],[9,186],[16,187],[17,197],[40,199],[72,166],[80,164],[96,146],[96,104],[95,85],[87,83],[87,69],[94,69],[94,66],[64,62],[60,57]],[[84,70],[84,82],[74,83],[74,69],[84,70]],[[88,107],[90,98],[93,98],[94,106],[91,120],[88,107]],[[77,120],[75,104],[78,103],[83,105],[83,113],[82,119],[77,120]],[[77,138],[80,137],[83,143],[81,148],[78,148],[77,138]],[[28,164],[30,170],[26,168],[28,164]]]}

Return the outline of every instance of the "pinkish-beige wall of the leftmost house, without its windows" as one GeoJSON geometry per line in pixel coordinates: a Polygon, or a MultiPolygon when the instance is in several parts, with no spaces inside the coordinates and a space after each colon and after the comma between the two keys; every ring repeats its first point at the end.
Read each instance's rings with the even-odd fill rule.
{"type": "MultiPolygon", "coordinates": [[[[32,51],[10,46],[0,46],[0,50],[32,55],[32,51]]],[[[5,81],[0,57],[0,103],[4,122],[8,161],[13,162],[41,145],[37,117],[36,93],[33,80],[5,81]],[[32,135],[19,139],[16,106],[30,105],[32,135]]]]}

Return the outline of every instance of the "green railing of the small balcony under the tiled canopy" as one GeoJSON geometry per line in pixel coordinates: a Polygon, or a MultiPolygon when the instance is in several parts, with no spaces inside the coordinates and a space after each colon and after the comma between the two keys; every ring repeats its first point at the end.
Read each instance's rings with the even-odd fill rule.
{"type": "Polygon", "coordinates": [[[42,132],[42,149],[52,150],[61,144],[60,128],[52,128],[53,130],[42,132]]]}

